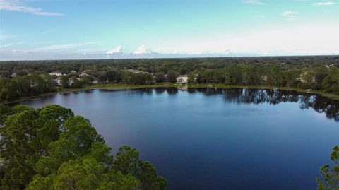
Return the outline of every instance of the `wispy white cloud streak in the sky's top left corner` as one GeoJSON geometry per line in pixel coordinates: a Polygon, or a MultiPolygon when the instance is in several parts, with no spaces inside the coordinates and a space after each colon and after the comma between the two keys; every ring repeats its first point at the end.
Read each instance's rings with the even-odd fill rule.
{"type": "Polygon", "coordinates": [[[20,0],[0,0],[0,10],[19,11],[42,16],[63,16],[62,13],[44,12],[41,8],[25,6],[23,1],[20,0]]]}

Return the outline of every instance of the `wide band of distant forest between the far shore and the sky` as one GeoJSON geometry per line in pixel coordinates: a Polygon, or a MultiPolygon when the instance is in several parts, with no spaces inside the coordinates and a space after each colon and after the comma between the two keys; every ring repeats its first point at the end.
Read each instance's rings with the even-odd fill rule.
{"type": "Polygon", "coordinates": [[[0,101],[97,83],[271,85],[339,94],[338,56],[0,62],[0,101]],[[62,76],[51,76],[58,71],[62,76]],[[59,80],[59,85],[56,83],[59,80]]]}

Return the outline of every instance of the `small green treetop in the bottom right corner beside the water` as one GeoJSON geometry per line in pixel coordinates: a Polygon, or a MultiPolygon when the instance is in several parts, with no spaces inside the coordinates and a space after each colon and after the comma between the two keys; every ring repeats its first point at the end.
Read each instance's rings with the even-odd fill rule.
{"type": "Polygon", "coordinates": [[[320,169],[321,178],[316,179],[318,190],[338,190],[339,189],[339,146],[333,148],[331,160],[334,164],[324,165],[320,169]]]}

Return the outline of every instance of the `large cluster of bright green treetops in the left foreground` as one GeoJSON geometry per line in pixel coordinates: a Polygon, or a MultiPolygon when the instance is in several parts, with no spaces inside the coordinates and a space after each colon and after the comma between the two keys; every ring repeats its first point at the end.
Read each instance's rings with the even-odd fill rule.
{"type": "Polygon", "coordinates": [[[138,151],[111,148],[71,109],[0,105],[0,189],[166,189],[167,181],[138,151]]]}

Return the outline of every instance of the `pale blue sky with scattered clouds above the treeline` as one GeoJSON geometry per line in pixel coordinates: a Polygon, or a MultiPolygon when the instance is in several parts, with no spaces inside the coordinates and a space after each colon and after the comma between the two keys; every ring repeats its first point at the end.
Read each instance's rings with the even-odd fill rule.
{"type": "Polygon", "coordinates": [[[339,54],[339,0],[0,0],[0,60],[339,54]]]}

